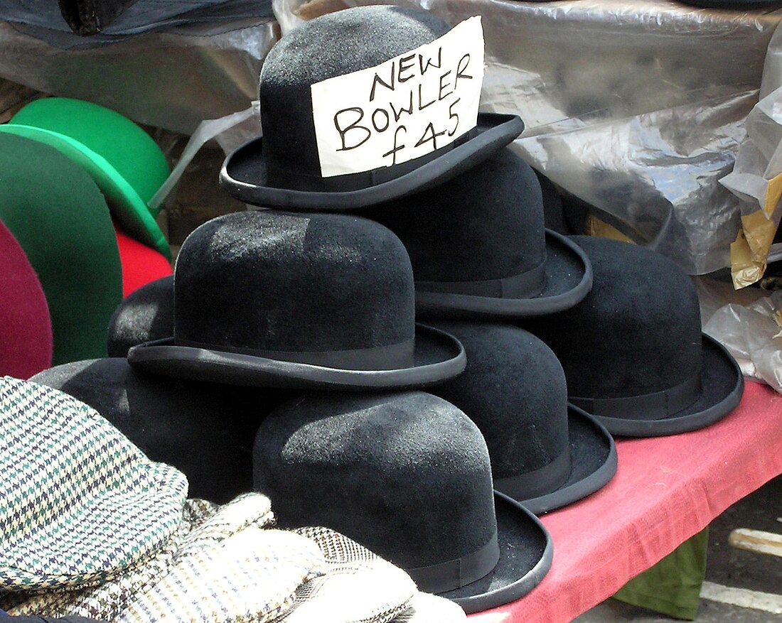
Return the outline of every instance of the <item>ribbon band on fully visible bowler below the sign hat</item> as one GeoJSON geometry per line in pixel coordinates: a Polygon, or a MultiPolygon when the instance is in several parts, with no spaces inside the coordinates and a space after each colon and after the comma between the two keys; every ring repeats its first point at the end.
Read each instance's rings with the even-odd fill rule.
{"type": "Polygon", "coordinates": [[[401,370],[413,367],[415,363],[414,339],[368,349],[325,351],[242,349],[234,346],[204,344],[181,338],[174,338],[174,343],[176,346],[220,350],[224,353],[252,355],[292,363],[307,363],[311,366],[332,367],[337,370],[401,370]]]}

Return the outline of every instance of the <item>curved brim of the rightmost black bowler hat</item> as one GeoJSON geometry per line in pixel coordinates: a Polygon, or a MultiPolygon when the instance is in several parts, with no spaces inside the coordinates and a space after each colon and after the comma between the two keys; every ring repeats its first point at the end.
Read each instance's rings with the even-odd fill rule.
{"type": "Polygon", "coordinates": [[[658,420],[635,420],[595,415],[597,421],[615,436],[658,437],[694,431],[714,424],[741,401],[744,376],[725,347],[702,335],[701,396],[686,409],[658,420]]]}

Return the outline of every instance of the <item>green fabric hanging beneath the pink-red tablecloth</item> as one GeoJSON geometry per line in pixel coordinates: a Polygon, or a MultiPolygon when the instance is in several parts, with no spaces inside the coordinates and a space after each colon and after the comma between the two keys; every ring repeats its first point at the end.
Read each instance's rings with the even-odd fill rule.
{"type": "Polygon", "coordinates": [[[707,545],[708,527],[627,582],[614,599],[692,621],[698,613],[707,545]]]}

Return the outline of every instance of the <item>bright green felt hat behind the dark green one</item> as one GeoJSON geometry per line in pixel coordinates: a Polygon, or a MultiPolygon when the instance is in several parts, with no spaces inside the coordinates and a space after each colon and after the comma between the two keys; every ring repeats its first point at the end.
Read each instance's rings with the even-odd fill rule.
{"type": "Polygon", "coordinates": [[[45,143],[73,159],[106,195],[124,230],[170,258],[156,213],[147,207],[168,177],[168,163],[138,125],[91,102],[43,98],[27,104],[0,131],[45,143]]]}

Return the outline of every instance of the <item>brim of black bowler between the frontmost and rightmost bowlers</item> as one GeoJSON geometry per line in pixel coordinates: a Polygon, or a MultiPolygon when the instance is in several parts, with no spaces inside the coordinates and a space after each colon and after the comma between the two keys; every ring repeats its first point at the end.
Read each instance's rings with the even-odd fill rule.
{"type": "Polygon", "coordinates": [[[594,417],[573,405],[568,406],[568,435],[570,475],[550,493],[519,499],[531,513],[540,515],[577,502],[607,485],[616,473],[614,439],[594,417]]]}

